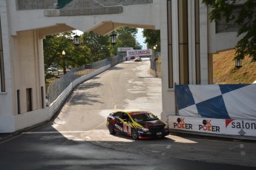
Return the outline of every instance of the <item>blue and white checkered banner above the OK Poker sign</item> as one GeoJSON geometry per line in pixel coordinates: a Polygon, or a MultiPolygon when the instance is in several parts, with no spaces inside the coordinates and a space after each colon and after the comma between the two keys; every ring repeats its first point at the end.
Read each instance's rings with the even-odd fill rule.
{"type": "Polygon", "coordinates": [[[180,116],[256,120],[256,84],[176,85],[180,116]]]}

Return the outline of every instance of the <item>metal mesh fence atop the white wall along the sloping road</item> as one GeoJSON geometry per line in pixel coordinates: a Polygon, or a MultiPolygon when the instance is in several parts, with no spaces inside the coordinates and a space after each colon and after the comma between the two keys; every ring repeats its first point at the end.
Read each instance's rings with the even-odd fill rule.
{"type": "Polygon", "coordinates": [[[69,72],[67,72],[65,75],[62,75],[62,77],[56,79],[56,81],[53,81],[53,83],[50,84],[50,86],[47,89],[47,98],[50,103],[53,103],[59,95],[62,94],[62,92],[65,91],[65,89],[77,78],[80,78],[83,75],[88,75],[91,72],[94,72],[96,69],[105,67],[107,65],[111,65],[111,67],[115,66],[116,64],[119,64],[123,61],[123,55],[117,55],[112,58],[105,58],[101,61],[96,61],[91,64],[86,64],[85,66],[71,69],[69,72]]]}

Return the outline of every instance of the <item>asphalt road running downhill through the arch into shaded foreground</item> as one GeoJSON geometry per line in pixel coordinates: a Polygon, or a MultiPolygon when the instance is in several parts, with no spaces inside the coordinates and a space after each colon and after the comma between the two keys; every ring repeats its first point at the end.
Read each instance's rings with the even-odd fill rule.
{"type": "Polygon", "coordinates": [[[105,123],[114,109],[160,117],[161,80],[148,68],[149,61],[125,62],[77,86],[49,123],[0,140],[0,169],[255,169],[253,141],[109,135],[105,123]]]}

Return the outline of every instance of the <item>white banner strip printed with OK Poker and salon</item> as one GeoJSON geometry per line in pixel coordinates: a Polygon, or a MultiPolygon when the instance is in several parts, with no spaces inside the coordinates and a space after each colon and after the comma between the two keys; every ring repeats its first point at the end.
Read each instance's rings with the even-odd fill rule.
{"type": "Polygon", "coordinates": [[[256,137],[256,120],[169,116],[168,122],[174,130],[256,137]]]}

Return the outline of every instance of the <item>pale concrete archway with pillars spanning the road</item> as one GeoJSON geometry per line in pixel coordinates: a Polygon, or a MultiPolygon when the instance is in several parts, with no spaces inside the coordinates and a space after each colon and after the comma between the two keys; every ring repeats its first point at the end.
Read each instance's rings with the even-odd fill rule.
{"type": "Polygon", "coordinates": [[[42,39],[70,30],[107,35],[120,26],[161,30],[163,115],[175,115],[174,84],[211,84],[211,54],[234,47],[202,0],[0,1],[0,132],[48,119],[42,39]]]}

